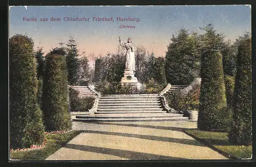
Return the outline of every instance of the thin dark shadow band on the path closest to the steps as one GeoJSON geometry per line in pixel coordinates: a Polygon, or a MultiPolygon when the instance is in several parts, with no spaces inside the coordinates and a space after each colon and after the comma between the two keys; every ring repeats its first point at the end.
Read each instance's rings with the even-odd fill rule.
{"type": "Polygon", "coordinates": [[[196,128],[179,128],[179,127],[164,127],[164,126],[154,126],[154,125],[139,125],[139,124],[120,124],[120,123],[101,123],[93,122],[89,124],[101,124],[101,125],[118,125],[118,126],[129,126],[129,127],[140,127],[140,128],[153,128],[153,129],[162,129],[162,130],[173,130],[184,132],[185,130],[191,130],[196,128]]]}

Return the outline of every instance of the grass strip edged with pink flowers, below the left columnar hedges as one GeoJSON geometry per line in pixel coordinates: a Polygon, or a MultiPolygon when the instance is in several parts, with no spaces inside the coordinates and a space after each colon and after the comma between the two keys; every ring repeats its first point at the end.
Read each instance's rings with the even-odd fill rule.
{"type": "Polygon", "coordinates": [[[11,159],[19,160],[45,160],[48,156],[64,146],[81,131],[69,131],[60,134],[46,134],[46,145],[42,149],[11,152],[11,159]]]}

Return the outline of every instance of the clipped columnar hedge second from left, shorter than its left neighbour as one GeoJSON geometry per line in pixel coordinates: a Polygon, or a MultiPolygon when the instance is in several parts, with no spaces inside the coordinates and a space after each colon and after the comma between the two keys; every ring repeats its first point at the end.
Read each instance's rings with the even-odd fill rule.
{"type": "Polygon", "coordinates": [[[71,115],[68,111],[68,73],[64,55],[65,51],[56,48],[46,56],[43,110],[47,131],[71,129],[71,115]]]}

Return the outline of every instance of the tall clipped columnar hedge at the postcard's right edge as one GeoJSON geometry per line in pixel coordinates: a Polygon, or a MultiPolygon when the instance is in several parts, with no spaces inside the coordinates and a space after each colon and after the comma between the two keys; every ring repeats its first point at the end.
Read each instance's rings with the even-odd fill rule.
{"type": "Polygon", "coordinates": [[[238,43],[238,69],[234,86],[233,123],[229,133],[229,141],[237,145],[251,145],[252,85],[250,34],[240,37],[238,43]]]}

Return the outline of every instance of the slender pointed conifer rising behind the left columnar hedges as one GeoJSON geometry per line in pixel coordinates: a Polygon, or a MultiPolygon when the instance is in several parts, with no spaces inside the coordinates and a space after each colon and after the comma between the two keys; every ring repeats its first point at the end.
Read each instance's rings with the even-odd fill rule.
{"type": "Polygon", "coordinates": [[[76,41],[73,37],[70,36],[70,39],[67,43],[67,68],[68,68],[68,81],[70,85],[78,85],[78,70],[79,70],[79,62],[78,62],[78,49],[76,41]]]}

